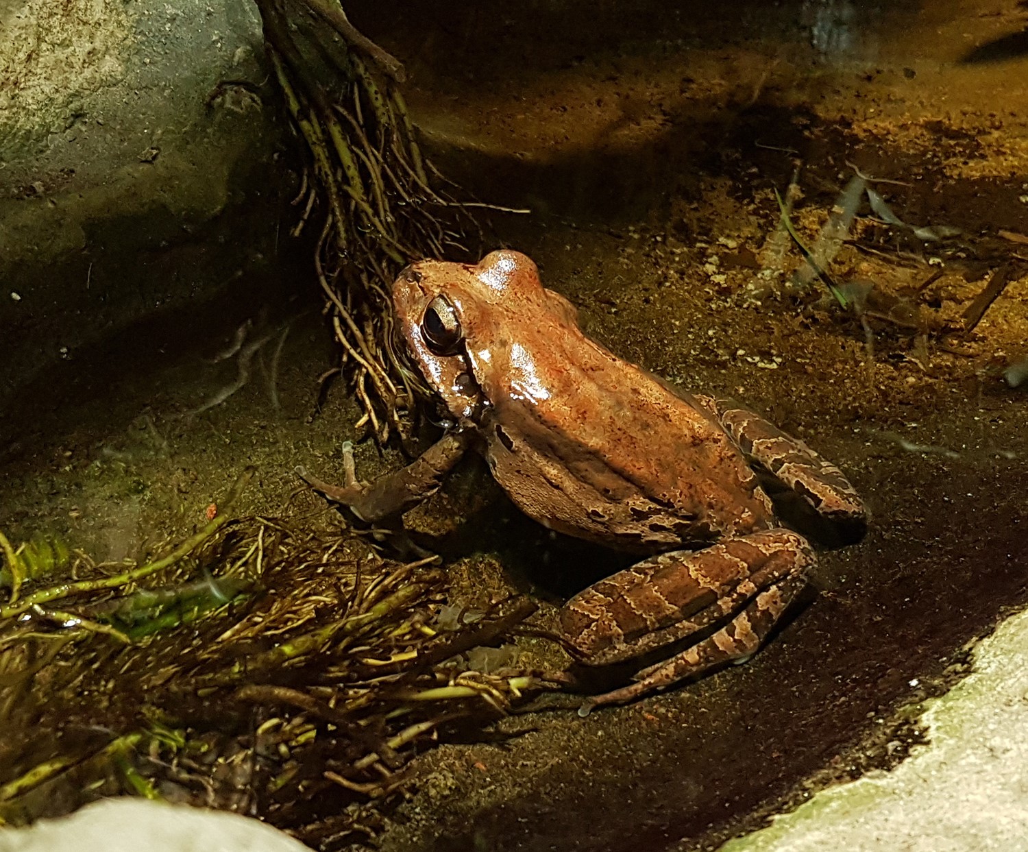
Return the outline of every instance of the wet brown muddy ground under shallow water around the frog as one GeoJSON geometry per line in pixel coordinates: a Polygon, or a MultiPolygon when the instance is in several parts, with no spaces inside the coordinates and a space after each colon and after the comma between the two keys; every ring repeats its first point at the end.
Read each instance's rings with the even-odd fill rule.
{"type": "MultiPolygon", "coordinates": [[[[749,663],[585,719],[512,716],[495,741],[427,752],[380,848],[713,847],[817,785],[902,760],[919,737],[904,708],[958,678],[966,643],[1028,600],[1028,395],[1001,377],[1028,356],[1028,66],[1009,38],[1028,13],[764,5],[711,17],[641,2],[381,16],[355,4],[407,60],[440,161],[480,197],[534,210],[495,215],[497,239],[534,257],[591,335],[809,441],[872,514],[862,543],[821,553],[817,593],[749,663]],[[853,166],[902,182],[874,186],[905,221],[960,229],[925,244],[865,203],[831,268],[874,284],[870,344],[817,282],[786,292],[787,240],[791,260],[776,259],[774,188],[796,177],[793,221],[812,242],[853,166]],[[965,331],[1004,265],[1011,283],[965,331]]],[[[42,518],[118,558],[170,513],[195,523],[248,464],[254,508],[288,497],[297,462],[333,478],[355,409],[337,388],[310,418],[333,358],[317,297],[268,292],[263,313],[235,291],[27,388],[0,445],[6,531],[42,518]],[[248,319],[292,322],[281,409],[258,365],[223,405],[178,416],[232,380],[231,362],[201,356],[248,319]]],[[[359,464],[379,464],[369,445],[359,464]]],[[[411,523],[507,516],[479,476],[461,473],[411,523]]],[[[566,594],[559,560],[507,558],[510,539],[535,534],[517,519],[487,528],[473,542],[484,553],[452,567],[457,597],[566,594]]]]}

